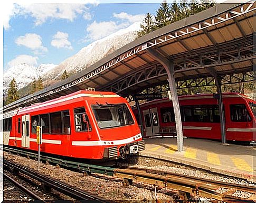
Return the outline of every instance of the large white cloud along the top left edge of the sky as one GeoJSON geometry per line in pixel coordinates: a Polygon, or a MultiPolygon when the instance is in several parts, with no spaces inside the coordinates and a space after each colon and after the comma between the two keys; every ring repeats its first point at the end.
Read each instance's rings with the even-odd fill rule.
{"type": "Polygon", "coordinates": [[[2,16],[4,22],[4,29],[10,28],[9,21],[12,17],[16,15],[30,15],[35,20],[35,25],[41,25],[48,19],[67,19],[68,21],[73,21],[78,15],[82,15],[84,19],[91,19],[91,14],[86,3],[98,5],[98,1],[62,1],[62,4],[57,3],[58,1],[44,1],[45,3],[40,3],[41,1],[26,1],[29,3],[24,3],[24,1],[15,1],[16,4],[11,2],[5,2],[2,5],[2,16]],[[72,3],[72,4],[70,4],[72,3]],[[75,4],[76,3],[76,4],[75,4]]]}

